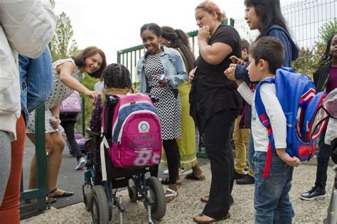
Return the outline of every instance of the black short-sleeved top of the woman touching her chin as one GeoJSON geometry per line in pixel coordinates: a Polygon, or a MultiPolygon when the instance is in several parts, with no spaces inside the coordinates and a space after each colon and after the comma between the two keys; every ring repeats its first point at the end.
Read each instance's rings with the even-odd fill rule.
{"type": "Polygon", "coordinates": [[[230,56],[235,55],[241,58],[240,35],[232,26],[220,25],[208,44],[218,42],[230,46],[232,53],[218,65],[208,64],[199,55],[190,92],[190,113],[201,133],[203,133],[207,119],[213,114],[221,110],[241,107],[240,94],[236,90],[235,81],[229,80],[223,73],[232,63],[230,56]]]}

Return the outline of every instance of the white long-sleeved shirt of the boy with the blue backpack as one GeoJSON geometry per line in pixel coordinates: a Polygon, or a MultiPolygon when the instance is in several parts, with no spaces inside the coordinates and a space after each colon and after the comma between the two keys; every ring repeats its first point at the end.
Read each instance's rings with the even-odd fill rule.
{"type": "MultiPolygon", "coordinates": [[[[257,117],[255,92],[252,92],[245,82],[242,82],[237,87],[237,91],[240,92],[246,102],[252,105],[252,137],[255,151],[267,151],[269,144],[268,131],[260,122],[259,117],[257,117]]],[[[264,83],[260,87],[260,95],[272,125],[275,147],[276,149],[284,149],[287,147],[287,119],[284,116],[279,100],[277,100],[275,85],[264,83]]]]}

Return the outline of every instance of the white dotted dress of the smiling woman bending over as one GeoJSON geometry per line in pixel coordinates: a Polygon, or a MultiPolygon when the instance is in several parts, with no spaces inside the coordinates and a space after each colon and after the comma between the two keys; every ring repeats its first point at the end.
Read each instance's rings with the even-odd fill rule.
{"type": "MultiPolygon", "coordinates": [[[[65,63],[65,61],[70,61],[75,65],[75,61],[73,58],[69,59],[61,59],[55,61],[53,63],[53,93],[48,97],[45,107],[45,127],[46,127],[46,133],[50,132],[56,132],[55,129],[50,124],[50,117],[53,117],[53,114],[51,113],[50,109],[58,105],[60,102],[65,100],[67,97],[69,97],[73,93],[73,89],[66,86],[61,82],[60,75],[56,71],[56,68],[58,65],[61,65],[65,63]]],[[[73,78],[78,80],[79,82],[83,80],[84,74],[80,73],[80,69],[75,65],[74,73],[72,74],[73,78]]],[[[62,124],[61,124],[62,125],[62,124]]],[[[31,112],[29,116],[29,121],[26,127],[26,133],[35,133],[35,111],[31,112]]]]}

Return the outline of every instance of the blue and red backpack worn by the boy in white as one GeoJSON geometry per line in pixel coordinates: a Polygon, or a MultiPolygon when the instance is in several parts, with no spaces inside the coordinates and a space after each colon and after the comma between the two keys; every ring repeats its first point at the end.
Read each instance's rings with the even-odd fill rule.
{"type": "Polygon", "coordinates": [[[269,176],[273,153],[277,156],[272,127],[260,95],[260,87],[266,82],[275,84],[277,99],[287,119],[286,152],[291,157],[296,156],[300,161],[309,161],[316,151],[316,139],[327,124],[325,121],[315,127],[314,117],[326,98],[326,92],[316,94],[314,82],[308,76],[295,73],[292,68],[284,67],[277,69],[275,78],[262,80],[255,90],[255,107],[257,116],[268,130],[269,137],[264,178],[269,176]]]}

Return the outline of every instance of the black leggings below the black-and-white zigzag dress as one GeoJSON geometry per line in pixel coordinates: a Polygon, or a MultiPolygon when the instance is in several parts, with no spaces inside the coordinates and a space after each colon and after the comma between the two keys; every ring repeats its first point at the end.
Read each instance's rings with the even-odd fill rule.
{"type": "MultiPolygon", "coordinates": [[[[176,139],[163,140],[163,146],[169,168],[169,184],[174,184],[177,181],[179,151],[176,139]]],[[[158,176],[158,166],[151,171],[151,176],[158,176]]]]}

